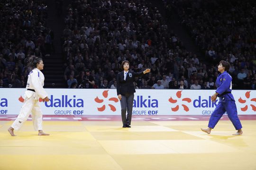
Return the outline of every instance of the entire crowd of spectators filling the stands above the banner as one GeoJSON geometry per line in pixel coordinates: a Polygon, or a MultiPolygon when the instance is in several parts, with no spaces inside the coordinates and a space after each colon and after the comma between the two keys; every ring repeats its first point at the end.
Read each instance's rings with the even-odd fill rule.
{"type": "MultiPolygon", "coordinates": [[[[256,2],[164,2],[204,59],[184,48],[146,0],[73,0],[63,30],[66,87],[116,88],[120,63],[129,60],[133,71],[151,68],[136,78],[136,89],[215,89],[218,62],[227,60],[233,89],[256,89],[256,2]]],[[[0,87],[25,87],[27,60],[50,53],[54,35],[46,28],[46,8],[42,0],[0,2],[0,87]]]]}

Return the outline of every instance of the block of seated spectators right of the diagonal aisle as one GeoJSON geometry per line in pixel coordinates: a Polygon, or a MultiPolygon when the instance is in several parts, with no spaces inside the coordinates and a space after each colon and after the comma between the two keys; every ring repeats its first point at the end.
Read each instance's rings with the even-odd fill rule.
{"type": "MultiPolygon", "coordinates": [[[[165,0],[181,17],[205,60],[231,63],[233,88],[256,89],[255,0],[165,0]]],[[[209,64],[208,68],[211,68],[209,64]]],[[[209,73],[208,73],[208,76],[209,73]]]]}

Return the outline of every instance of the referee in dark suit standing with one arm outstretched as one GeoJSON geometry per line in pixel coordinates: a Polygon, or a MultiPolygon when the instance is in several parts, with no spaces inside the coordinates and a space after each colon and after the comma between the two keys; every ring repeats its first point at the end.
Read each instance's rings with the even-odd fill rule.
{"type": "Polygon", "coordinates": [[[135,93],[133,85],[135,76],[143,76],[143,74],[149,73],[150,69],[147,68],[139,73],[129,71],[130,63],[125,60],[121,64],[122,72],[117,75],[117,94],[121,103],[121,115],[123,121],[123,127],[130,127],[132,116],[132,105],[135,93]],[[126,116],[127,110],[127,116],[126,116]]]}

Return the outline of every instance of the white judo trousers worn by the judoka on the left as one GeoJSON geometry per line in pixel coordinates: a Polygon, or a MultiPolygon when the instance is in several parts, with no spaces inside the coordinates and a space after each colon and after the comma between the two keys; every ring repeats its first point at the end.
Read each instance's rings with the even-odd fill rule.
{"type": "MultiPolygon", "coordinates": [[[[35,93],[35,92],[34,92],[35,93]]],[[[11,125],[15,130],[19,130],[22,124],[27,120],[30,113],[35,130],[43,130],[43,114],[39,105],[37,94],[25,98],[24,104],[19,111],[17,119],[11,125]]]]}

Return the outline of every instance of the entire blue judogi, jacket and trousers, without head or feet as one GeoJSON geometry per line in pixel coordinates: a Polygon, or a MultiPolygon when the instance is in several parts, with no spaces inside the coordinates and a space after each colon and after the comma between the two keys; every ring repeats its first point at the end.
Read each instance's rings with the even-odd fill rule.
{"type": "Polygon", "coordinates": [[[218,75],[215,84],[217,86],[216,93],[219,93],[219,103],[210,116],[208,127],[214,128],[222,115],[227,112],[236,130],[241,129],[242,125],[238,118],[237,106],[231,93],[232,77],[227,71],[224,71],[218,75]]]}

